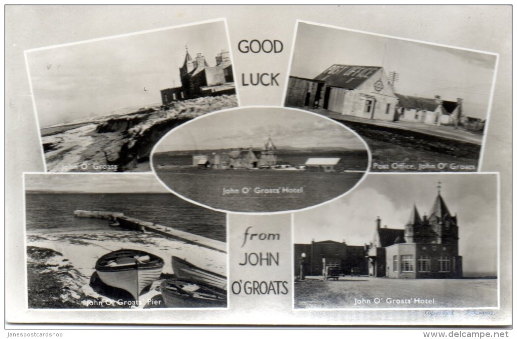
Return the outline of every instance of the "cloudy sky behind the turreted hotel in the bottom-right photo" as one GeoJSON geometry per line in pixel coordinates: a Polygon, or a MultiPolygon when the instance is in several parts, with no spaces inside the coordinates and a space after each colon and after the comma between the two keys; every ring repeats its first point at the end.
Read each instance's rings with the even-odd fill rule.
{"type": "Polygon", "coordinates": [[[463,272],[496,275],[497,181],[495,174],[369,174],[345,196],[294,214],[294,242],[373,240],[375,220],[403,229],[413,204],[420,217],[437,196],[437,182],[451,214],[458,213],[463,272]]]}

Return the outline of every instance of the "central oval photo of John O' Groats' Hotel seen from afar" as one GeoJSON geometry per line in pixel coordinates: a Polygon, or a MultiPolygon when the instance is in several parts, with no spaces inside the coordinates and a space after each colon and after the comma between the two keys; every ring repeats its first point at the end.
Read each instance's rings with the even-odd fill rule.
{"type": "Polygon", "coordinates": [[[279,212],[322,204],[352,189],[368,147],[317,114],[246,107],[206,115],[157,144],[152,164],[172,192],[233,212],[279,212]]]}

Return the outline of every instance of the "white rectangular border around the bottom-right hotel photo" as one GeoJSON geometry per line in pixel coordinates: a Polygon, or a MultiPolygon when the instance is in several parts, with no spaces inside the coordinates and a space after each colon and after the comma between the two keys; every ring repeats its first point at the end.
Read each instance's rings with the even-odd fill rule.
{"type": "MultiPolygon", "coordinates": [[[[501,245],[500,245],[500,242],[501,242],[501,239],[500,239],[500,233],[501,233],[501,215],[500,215],[500,175],[499,175],[499,172],[425,172],[425,173],[398,173],[398,172],[394,172],[394,173],[383,173],[383,172],[375,172],[375,173],[370,173],[371,175],[374,175],[374,176],[383,176],[383,175],[494,175],[496,176],[496,180],[495,180],[495,184],[496,184],[496,197],[497,197],[497,201],[496,201],[496,206],[495,206],[495,209],[496,209],[496,214],[497,214],[497,306],[493,306],[493,307],[432,307],[432,308],[429,308],[429,309],[422,309],[422,308],[417,308],[417,307],[414,307],[414,308],[383,308],[383,309],[368,309],[368,308],[353,308],[353,309],[326,309],[326,308],[321,308],[321,309],[318,309],[318,308],[313,308],[313,309],[302,309],[302,308],[295,308],[294,307],[294,274],[292,274],[293,276],[293,304],[292,304],[292,307],[293,307],[293,311],[301,311],[301,312],[306,312],[306,311],[427,311],[427,310],[500,310],[500,307],[501,307],[501,272],[500,272],[500,268],[501,268],[501,264],[500,264],[500,256],[501,256],[501,245]]],[[[293,234],[292,234],[292,237],[293,237],[293,243],[292,243],[292,253],[293,253],[293,256],[294,256],[294,232],[295,232],[295,216],[293,214],[293,234]]],[[[294,257],[292,258],[292,260],[294,260],[294,257]]],[[[294,261],[292,261],[292,263],[294,263],[294,261]]],[[[293,267],[293,272],[294,272],[294,267],[293,267]]],[[[389,278],[388,278],[389,279],[389,278]]]]}

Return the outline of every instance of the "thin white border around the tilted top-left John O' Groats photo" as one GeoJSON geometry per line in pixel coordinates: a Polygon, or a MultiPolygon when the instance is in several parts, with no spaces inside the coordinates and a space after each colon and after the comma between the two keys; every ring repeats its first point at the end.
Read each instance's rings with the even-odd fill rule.
{"type": "MultiPolygon", "coordinates": [[[[42,139],[42,136],[41,136],[41,126],[39,124],[38,111],[37,111],[37,107],[36,107],[36,98],[34,97],[34,89],[33,89],[33,85],[32,85],[33,79],[32,79],[32,76],[31,76],[31,71],[29,70],[29,63],[28,63],[28,60],[27,60],[27,54],[28,53],[37,52],[37,51],[43,51],[43,50],[50,50],[50,49],[54,49],[54,48],[69,47],[69,46],[73,46],[73,45],[77,45],[77,44],[82,44],[82,43],[97,42],[97,41],[103,41],[103,40],[109,40],[109,39],[123,38],[123,37],[128,37],[128,36],[135,36],[135,35],[142,35],[142,34],[148,34],[148,33],[162,32],[163,30],[169,30],[169,29],[175,29],[175,28],[183,28],[183,27],[189,27],[189,26],[196,26],[196,25],[202,25],[202,24],[208,24],[208,23],[220,22],[220,21],[223,22],[224,29],[226,31],[226,43],[228,44],[228,49],[229,49],[229,52],[230,52],[230,55],[231,55],[232,72],[233,72],[233,71],[235,71],[235,65],[234,65],[235,59],[234,59],[234,55],[233,55],[233,51],[232,51],[232,43],[230,41],[230,32],[228,30],[228,23],[226,21],[226,18],[217,18],[217,19],[193,22],[193,23],[177,25],[177,26],[168,26],[168,27],[162,27],[162,28],[147,29],[147,30],[141,30],[139,32],[119,34],[119,35],[113,35],[113,36],[109,36],[109,37],[88,39],[88,40],[82,40],[82,41],[77,41],[77,42],[68,42],[68,43],[62,43],[62,44],[51,45],[51,46],[47,46],[47,47],[40,47],[40,48],[35,48],[35,49],[30,49],[30,50],[23,51],[23,56],[24,56],[24,59],[25,59],[25,69],[27,71],[29,88],[31,89],[31,98],[32,98],[32,102],[33,102],[34,116],[36,118],[36,128],[38,129],[37,133],[38,133],[39,143],[40,143],[40,146],[41,146],[41,157],[43,159],[44,172],[48,172],[47,159],[45,158],[45,152],[43,150],[43,139],[42,139]]],[[[235,82],[235,84],[236,84],[236,82],[235,82]]],[[[235,96],[237,97],[237,106],[240,106],[241,103],[240,103],[240,96],[239,96],[239,89],[238,89],[238,87],[239,86],[237,86],[237,85],[235,86],[235,96]]],[[[149,157],[150,157],[150,155],[149,155],[149,157]]],[[[148,171],[147,173],[151,173],[151,172],[152,171],[148,171]]],[[[50,173],[69,173],[69,172],[50,172],[50,173]]],[[[81,173],[110,173],[110,172],[81,172],[81,173]]],[[[128,172],[128,171],[126,171],[126,172],[123,172],[123,173],[138,173],[138,172],[128,172]]]]}

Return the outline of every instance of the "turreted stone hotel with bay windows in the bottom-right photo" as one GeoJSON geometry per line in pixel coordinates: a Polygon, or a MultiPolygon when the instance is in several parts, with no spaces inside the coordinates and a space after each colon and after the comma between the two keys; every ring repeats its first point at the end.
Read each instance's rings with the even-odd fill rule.
{"type": "MultiPolygon", "coordinates": [[[[439,186],[438,186],[439,187],[439,186]]],[[[377,218],[368,246],[369,274],[389,278],[461,278],[458,218],[438,195],[428,215],[414,206],[404,229],[382,228],[377,218]]]]}

